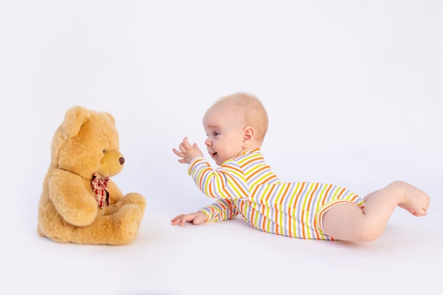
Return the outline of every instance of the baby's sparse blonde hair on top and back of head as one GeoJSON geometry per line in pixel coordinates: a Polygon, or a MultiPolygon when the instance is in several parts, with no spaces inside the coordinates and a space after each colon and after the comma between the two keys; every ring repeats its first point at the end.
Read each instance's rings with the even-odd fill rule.
{"type": "Polygon", "coordinates": [[[255,139],[262,142],[267,132],[268,118],[261,101],[251,93],[237,92],[219,98],[212,108],[222,103],[234,103],[245,116],[246,124],[255,130],[255,139]]]}

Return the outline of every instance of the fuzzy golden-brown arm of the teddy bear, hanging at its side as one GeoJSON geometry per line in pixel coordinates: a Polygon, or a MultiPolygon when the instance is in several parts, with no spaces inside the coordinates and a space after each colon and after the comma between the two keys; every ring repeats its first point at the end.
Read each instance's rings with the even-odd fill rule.
{"type": "Polygon", "coordinates": [[[57,212],[69,224],[86,226],[96,219],[98,206],[91,183],[81,176],[56,169],[50,178],[49,192],[57,212]]]}

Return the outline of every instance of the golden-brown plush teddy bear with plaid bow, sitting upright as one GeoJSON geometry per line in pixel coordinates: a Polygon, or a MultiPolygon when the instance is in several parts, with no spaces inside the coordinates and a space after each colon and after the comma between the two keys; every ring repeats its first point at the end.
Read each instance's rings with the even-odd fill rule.
{"type": "Polygon", "coordinates": [[[74,106],[52,138],[38,204],[38,234],[58,243],[125,245],[134,241],[146,199],[123,195],[110,178],[125,158],[115,118],[74,106]]]}

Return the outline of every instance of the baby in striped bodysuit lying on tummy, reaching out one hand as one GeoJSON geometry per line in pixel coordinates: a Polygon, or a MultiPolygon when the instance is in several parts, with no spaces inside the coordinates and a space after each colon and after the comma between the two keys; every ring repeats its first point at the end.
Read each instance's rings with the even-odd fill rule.
{"type": "Polygon", "coordinates": [[[183,226],[232,219],[240,214],[251,226],[294,238],[368,242],[379,238],[398,206],[425,216],[430,197],[417,187],[394,181],[363,199],[345,187],[323,183],[282,183],[265,163],[260,147],[267,112],[248,93],[217,100],[203,117],[211,168],[197,144],[185,137],[178,149],[188,173],[213,204],[172,219],[183,226]]]}

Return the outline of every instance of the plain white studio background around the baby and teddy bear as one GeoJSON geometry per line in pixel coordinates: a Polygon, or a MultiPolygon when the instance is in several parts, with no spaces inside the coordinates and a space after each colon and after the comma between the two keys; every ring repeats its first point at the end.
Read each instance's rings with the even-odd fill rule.
{"type": "Polygon", "coordinates": [[[442,1],[1,1],[2,294],[443,294],[442,1]],[[173,227],[211,199],[171,149],[204,148],[214,100],[255,93],[284,181],[432,197],[374,243],[308,241],[241,219],[173,227]],[[37,236],[52,134],[74,105],[111,112],[115,182],[147,209],[124,246],[37,236]],[[6,163],[6,165],[5,165],[6,163]]]}

